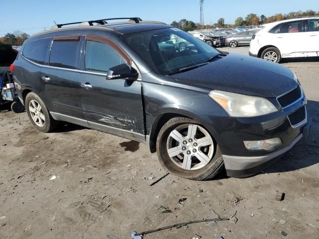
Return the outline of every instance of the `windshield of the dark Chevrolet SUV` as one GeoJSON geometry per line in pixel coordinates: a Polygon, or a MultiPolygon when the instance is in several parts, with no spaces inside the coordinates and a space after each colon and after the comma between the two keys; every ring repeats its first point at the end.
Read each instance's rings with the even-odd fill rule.
{"type": "Polygon", "coordinates": [[[164,28],[120,36],[160,75],[206,62],[220,54],[215,48],[178,28],[164,28]]]}

